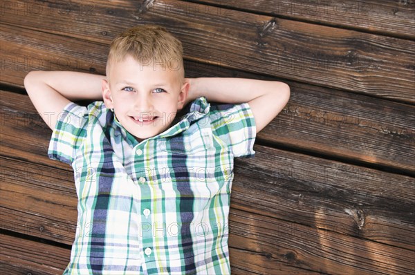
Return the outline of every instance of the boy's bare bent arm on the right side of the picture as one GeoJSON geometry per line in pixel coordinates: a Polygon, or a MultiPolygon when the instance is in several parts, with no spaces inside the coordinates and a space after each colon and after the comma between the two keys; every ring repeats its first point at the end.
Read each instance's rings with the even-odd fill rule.
{"type": "Polygon", "coordinates": [[[212,102],[248,102],[255,117],[257,133],[282,111],[290,97],[290,87],[283,82],[216,77],[186,80],[190,83],[187,102],[201,96],[212,102]]]}

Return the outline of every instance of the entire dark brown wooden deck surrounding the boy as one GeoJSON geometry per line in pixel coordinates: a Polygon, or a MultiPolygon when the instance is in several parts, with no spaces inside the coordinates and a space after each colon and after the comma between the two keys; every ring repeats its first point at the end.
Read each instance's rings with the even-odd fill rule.
{"type": "Polygon", "coordinates": [[[291,86],[235,162],[232,274],[415,274],[414,1],[0,3],[0,274],[62,274],[76,229],[73,171],[48,159],[24,76],[104,74],[142,23],[183,41],[187,77],[291,86]]]}

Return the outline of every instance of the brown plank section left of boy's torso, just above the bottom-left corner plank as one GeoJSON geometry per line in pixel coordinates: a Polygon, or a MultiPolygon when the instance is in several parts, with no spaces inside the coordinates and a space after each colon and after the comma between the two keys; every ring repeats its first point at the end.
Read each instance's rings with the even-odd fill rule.
{"type": "MultiPolygon", "coordinates": [[[[73,172],[0,158],[1,229],[71,244],[77,196],[73,172]]],[[[75,222],[75,224],[74,224],[75,222]]]]}

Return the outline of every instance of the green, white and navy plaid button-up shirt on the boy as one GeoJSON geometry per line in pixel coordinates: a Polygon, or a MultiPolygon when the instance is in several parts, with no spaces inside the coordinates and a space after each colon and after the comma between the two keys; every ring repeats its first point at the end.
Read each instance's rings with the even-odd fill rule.
{"type": "Polygon", "coordinates": [[[72,165],[78,197],[64,274],[230,274],[234,157],[255,154],[255,120],[205,97],[187,111],[138,142],[103,102],[64,108],[48,150],[72,165]]]}

